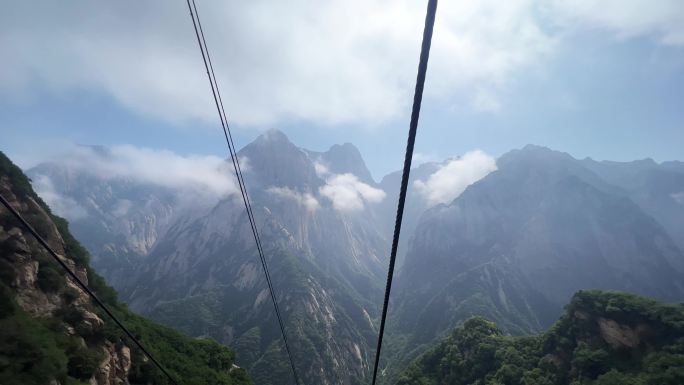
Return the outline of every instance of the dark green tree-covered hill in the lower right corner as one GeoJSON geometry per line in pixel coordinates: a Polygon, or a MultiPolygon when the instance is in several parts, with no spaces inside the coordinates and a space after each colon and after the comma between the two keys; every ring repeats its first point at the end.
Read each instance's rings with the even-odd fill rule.
{"type": "Polygon", "coordinates": [[[546,333],[504,336],[474,317],[415,361],[399,384],[684,383],[684,305],[581,291],[546,333]]]}

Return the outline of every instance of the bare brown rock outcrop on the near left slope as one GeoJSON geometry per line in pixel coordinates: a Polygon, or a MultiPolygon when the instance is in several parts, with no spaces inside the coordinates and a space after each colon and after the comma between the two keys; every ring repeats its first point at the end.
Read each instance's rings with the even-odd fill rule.
{"type": "MultiPolygon", "coordinates": [[[[36,224],[44,239],[60,255],[60,258],[76,275],[88,283],[86,266],[67,257],[65,242],[51,216],[33,197],[15,194],[14,181],[3,173],[0,175],[0,194],[24,217],[36,224]]],[[[91,384],[117,385],[128,383],[131,369],[130,348],[125,344],[114,344],[105,340],[98,343],[88,342],[86,338],[101,329],[104,321],[92,311],[90,298],[80,286],[65,277],[47,251],[11,217],[4,207],[0,207],[0,260],[3,275],[11,277],[5,284],[11,290],[13,301],[20,310],[31,318],[59,319],[64,314],[79,319],[68,324],[65,334],[93,352],[99,358],[92,365],[94,372],[88,379],[91,384]]],[[[82,261],[79,261],[82,262],[82,261]]],[[[9,293],[3,293],[8,295],[9,293]]],[[[73,372],[73,370],[71,370],[73,372]]],[[[57,376],[58,373],[50,373],[57,376]]],[[[69,377],[74,373],[69,373],[69,377]]],[[[80,375],[82,373],[77,373],[80,375]]],[[[82,376],[86,377],[86,376],[82,376]]],[[[54,380],[61,383],[62,379],[54,380]]]]}

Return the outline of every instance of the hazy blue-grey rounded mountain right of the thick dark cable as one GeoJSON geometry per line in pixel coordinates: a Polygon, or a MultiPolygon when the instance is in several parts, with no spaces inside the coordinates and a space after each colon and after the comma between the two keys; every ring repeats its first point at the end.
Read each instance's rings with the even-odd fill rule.
{"type": "Polygon", "coordinates": [[[539,332],[582,289],[684,298],[681,249],[628,190],[587,162],[538,146],[514,150],[497,171],[422,215],[396,280],[399,342],[388,362],[398,365],[473,315],[507,333],[539,332]]]}

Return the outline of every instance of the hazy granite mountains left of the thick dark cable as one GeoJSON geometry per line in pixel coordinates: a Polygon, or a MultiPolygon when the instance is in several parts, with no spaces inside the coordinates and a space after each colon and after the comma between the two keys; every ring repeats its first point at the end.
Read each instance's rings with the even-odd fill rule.
{"type": "MultiPolygon", "coordinates": [[[[239,156],[299,371],[320,384],[362,381],[388,249],[372,211],[384,192],[351,144],[311,152],[273,130],[239,156]]],[[[181,202],[154,185],[72,175],[66,162],[31,175],[84,202],[74,231],[134,310],[237,346],[259,383],[290,379],[239,195],[181,202]],[[115,210],[121,201],[129,210],[115,210]]]]}

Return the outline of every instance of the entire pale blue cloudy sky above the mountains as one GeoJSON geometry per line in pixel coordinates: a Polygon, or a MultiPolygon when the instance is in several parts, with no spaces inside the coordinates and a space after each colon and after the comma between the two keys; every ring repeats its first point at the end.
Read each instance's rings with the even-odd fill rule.
{"type": "MultiPolygon", "coordinates": [[[[376,179],[401,167],[424,2],[198,7],[239,146],[278,128],[313,150],[354,143],[376,179]]],[[[684,160],[681,0],[444,0],[437,12],[417,159],[535,143],[684,160]]],[[[213,164],[226,150],[194,39],[183,0],[8,4],[0,150],[24,166],[74,143],[213,164]]]]}

